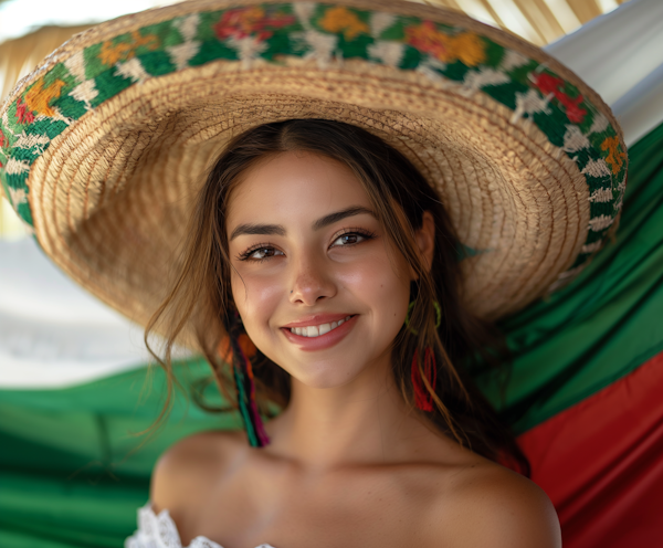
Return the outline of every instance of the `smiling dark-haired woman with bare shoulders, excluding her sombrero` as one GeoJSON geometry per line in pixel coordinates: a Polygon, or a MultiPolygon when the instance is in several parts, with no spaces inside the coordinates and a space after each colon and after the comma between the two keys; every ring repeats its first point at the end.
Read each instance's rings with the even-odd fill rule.
{"type": "Polygon", "coordinates": [[[490,339],[459,299],[457,246],[430,185],[366,130],[290,120],[231,141],[161,314],[204,317],[222,387],[221,334],[248,336],[257,402],[284,410],[262,449],[228,432],[172,446],[143,512],[168,510],[185,546],[559,546],[546,495],[494,462],[523,456],[462,375],[490,339]]]}

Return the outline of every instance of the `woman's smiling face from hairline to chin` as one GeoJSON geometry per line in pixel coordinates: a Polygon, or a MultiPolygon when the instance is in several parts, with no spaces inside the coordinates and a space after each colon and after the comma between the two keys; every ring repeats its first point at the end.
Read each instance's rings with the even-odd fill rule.
{"type": "Polygon", "coordinates": [[[260,350],[312,388],[389,365],[408,308],[410,268],[352,171],[284,152],[232,191],[232,294],[260,350]]]}

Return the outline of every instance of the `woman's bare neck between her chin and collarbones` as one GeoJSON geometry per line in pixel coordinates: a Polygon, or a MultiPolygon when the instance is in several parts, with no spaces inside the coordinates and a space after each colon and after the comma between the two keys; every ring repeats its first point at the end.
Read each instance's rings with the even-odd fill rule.
{"type": "Polygon", "coordinates": [[[288,407],[267,424],[270,450],[303,466],[402,462],[438,438],[403,401],[388,359],[341,387],[292,382],[288,407]]]}

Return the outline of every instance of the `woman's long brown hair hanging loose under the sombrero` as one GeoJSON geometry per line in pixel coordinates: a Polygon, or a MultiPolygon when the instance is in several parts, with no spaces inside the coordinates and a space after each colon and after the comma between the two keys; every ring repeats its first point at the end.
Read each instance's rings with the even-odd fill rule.
{"type": "MultiPolygon", "coordinates": [[[[232,365],[223,350],[223,342],[238,333],[225,232],[228,200],[242,175],[256,161],[295,150],[335,159],[352,170],[388,240],[418,275],[411,286],[413,305],[408,326],[399,333],[392,352],[393,376],[404,401],[414,409],[412,362],[414,359],[414,367],[423,373],[425,349],[432,349],[438,381],[434,390],[427,380],[423,383],[434,405],[422,415],[440,432],[475,453],[509,462],[528,474],[527,460],[509,429],[467,373],[477,362],[501,366],[505,345],[491,324],[474,317],[462,305],[462,246],[449,214],[436,191],[402,154],[356,126],[325,119],[292,119],[254,127],[230,141],[198,196],[171,292],[146,328],[146,340],[152,330],[166,337],[165,356],[155,357],[170,372],[175,341],[182,337],[193,339],[211,365],[224,396],[235,400],[229,390],[233,386],[232,365]],[[430,271],[422,263],[414,240],[424,211],[430,211],[435,222],[435,251],[430,271]]],[[[273,409],[270,404],[287,405],[288,373],[260,350],[251,363],[262,412],[269,414],[273,409]]]]}

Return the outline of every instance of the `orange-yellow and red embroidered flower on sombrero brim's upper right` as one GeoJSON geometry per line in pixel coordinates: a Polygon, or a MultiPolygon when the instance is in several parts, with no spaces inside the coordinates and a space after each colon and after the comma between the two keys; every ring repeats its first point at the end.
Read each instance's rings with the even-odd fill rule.
{"type": "Polygon", "coordinates": [[[476,66],[486,60],[483,41],[472,32],[454,36],[440,32],[431,21],[406,29],[409,44],[430,53],[444,63],[462,61],[467,66],[476,66]]]}

